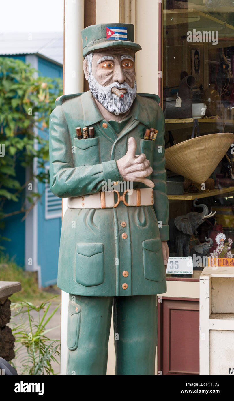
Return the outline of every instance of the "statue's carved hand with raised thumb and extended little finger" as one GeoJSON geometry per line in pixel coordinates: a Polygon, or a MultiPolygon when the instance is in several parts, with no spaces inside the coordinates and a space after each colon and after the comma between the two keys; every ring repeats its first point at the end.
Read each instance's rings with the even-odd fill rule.
{"type": "Polygon", "coordinates": [[[153,168],[145,154],[136,155],[136,140],[128,139],[128,151],[119,160],[116,160],[118,170],[125,181],[143,182],[145,185],[153,188],[155,184],[148,177],[153,168]]]}

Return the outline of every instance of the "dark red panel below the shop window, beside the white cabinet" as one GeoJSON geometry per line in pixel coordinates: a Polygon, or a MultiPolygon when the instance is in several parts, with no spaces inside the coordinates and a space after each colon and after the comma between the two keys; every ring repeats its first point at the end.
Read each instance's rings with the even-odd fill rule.
{"type": "Polygon", "coordinates": [[[158,371],[163,375],[199,375],[199,300],[161,299],[158,371]]]}

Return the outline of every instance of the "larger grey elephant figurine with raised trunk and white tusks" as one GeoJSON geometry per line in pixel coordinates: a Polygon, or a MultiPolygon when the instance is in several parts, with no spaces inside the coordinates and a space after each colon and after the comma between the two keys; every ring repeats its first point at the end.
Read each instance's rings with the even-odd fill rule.
{"type": "Polygon", "coordinates": [[[202,212],[190,212],[187,215],[177,216],[174,220],[175,224],[175,248],[177,255],[180,257],[189,256],[190,236],[197,234],[197,228],[209,217],[215,215],[216,212],[208,213],[208,207],[204,204],[196,205],[197,198],[193,201],[194,207],[202,208],[202,212]]]}

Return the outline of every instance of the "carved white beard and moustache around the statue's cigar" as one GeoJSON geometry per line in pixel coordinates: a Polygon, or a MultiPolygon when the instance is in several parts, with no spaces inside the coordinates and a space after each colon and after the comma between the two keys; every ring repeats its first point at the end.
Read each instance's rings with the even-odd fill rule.
{"type": "Polygon", "coordinates": [[[133,88],[131,88],[126,82],[122,84],[113,82],[108,86],[102,86],[98,81],[96,81],[91,71],[88,82],[93,97],[97,99],[106,110],[115,115],[125,114],[130,109],[136,97],[136,80],[133,88]],[[120,98],[112,93],[111,89],[113,87],[118,89],[127,89],[127,92],[124,97],[120,98]]]}

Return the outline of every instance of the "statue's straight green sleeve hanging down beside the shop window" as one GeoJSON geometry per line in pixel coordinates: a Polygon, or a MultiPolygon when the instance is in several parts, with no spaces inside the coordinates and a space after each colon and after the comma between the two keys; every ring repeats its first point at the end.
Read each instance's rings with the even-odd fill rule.
{"type": "Polygon", "coordinates": [[[157,138],[155,140],[152,180],[154,187],[154,209],[159,223],[162,241],[169,240],[169,202],[167,198],[167,174],[165,170],[165,118],[161,107],[157,112],[157,138]]]}

